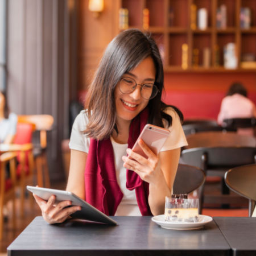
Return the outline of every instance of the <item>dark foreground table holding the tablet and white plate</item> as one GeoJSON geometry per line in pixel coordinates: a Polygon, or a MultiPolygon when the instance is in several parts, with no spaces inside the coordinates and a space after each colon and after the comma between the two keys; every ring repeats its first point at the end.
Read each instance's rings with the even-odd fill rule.
{"type": "Polygon", "coordinates": [[[8,255],[230,255],[214,221],[197,230],[163,229],[151,217],[113,217],[118,226],[36,217],[7,248],[8,255]]]}

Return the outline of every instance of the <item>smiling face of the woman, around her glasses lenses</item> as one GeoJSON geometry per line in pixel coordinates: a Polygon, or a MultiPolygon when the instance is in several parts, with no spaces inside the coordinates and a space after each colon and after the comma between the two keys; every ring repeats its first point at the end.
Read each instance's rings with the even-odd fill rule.
{"type": "MultiPolygon", "coordinates": [[[[155,74],[154,61],[151,57],[147,57],[142,60],[136,68],[125,73],[123,77],[130,77],[134,79],[137,84],[146,84],[155,82],[155,74]]],[[[121,120],[131,121],[146,108],[149,101],[141,96],[141,86],[139,85],[129,94],[123,94],[119,90],[119,86],[115,86],[114,99],[115,109],[117,111],[117,122],[121,120]]]]}

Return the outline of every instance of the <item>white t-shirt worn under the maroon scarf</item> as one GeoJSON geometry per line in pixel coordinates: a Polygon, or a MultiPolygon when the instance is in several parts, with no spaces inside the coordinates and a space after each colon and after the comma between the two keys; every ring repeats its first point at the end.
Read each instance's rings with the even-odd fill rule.
{"type": "MultiPolygon", "coordinates": [[[[167,127],[167,122],[164,120],[166,128],[168,128],[171,132],[160,151],[173,150],[175,148],[186,146],[187,140],[180,123],[179,115],[177,115],[175,110],[172,108],[168,108],[166,113],[172,117],[172,125],[170,127],[167,127]]],[[[69,142],[69,147],[71,149],[86,153],[89,152],[90,138],[86,137],[86,135],[82,133],[82,131],[85,130],[87,123],[88,115],[86,114],[85,110],[82,110],[79,115],[77,115],[73,123],[69,142]]],[[[114,151],[117,182],[123,193],[122,201],[118,205],[115,216],[141,216],[135,196],[135,189],[130,191],[126,188],[126,169],[123,167],[122,156],[127,155],[126,149],[128,144],[117,143],[112,137],[110,137],[110,140],[112,142],[114,151]]]]}

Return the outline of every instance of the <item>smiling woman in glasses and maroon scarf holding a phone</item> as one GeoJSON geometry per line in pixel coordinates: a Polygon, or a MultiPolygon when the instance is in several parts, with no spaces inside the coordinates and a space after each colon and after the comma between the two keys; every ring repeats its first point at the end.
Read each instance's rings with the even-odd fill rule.
{"type": "MultiPolygon", "coordinates": [[[[183,115],[161,101],[162,90],[163,65],[154,40],[135,29],[121,32],[106,48],[86,110],[73,124],[67,191],[109,215],[163,213],[187,141],[183,115]],[[146,123],[171,130],[159,155],[140,141],[147,159],[130,149],[146,123]]],[[[35,199],[51,224],[80,209],[64,209],[69,201],[55,205],[55,196],[48,202],[35,199]]]]}

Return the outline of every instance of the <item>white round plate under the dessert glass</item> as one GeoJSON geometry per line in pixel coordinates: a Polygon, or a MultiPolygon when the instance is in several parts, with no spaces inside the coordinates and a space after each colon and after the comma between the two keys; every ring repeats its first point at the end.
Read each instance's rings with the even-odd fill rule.
{"type": "Polygon", "coordinates": [[[152,217],[151,220],[164,229],[189,230],[203,228],[205,224],[212,221],[212,217],[199,214],[199,222],[172,222],[165,221],[164,214],[162,214],[152,217]]]}

